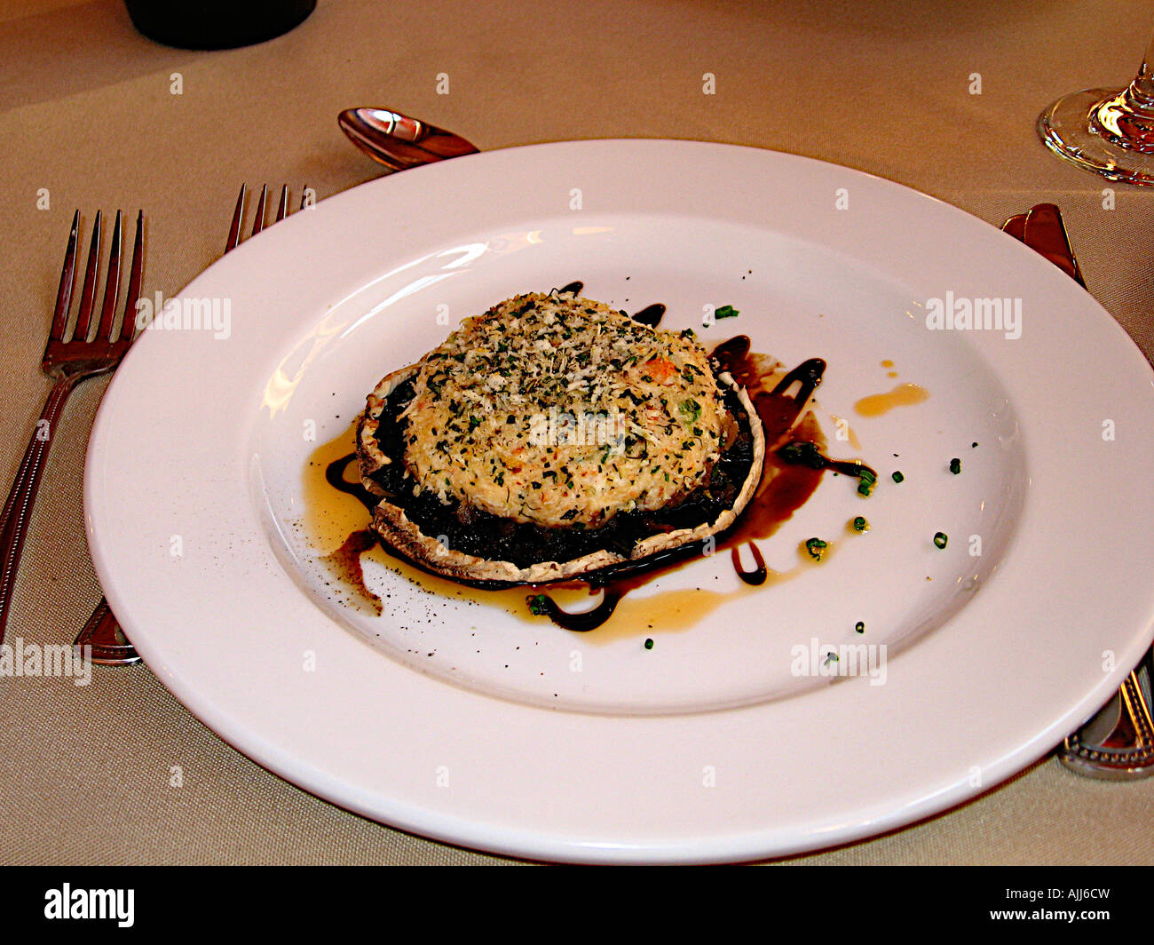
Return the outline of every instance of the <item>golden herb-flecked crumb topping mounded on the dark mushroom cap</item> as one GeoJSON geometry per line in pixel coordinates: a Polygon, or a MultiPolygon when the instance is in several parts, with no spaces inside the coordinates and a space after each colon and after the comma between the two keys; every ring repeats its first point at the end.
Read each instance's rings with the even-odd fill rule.
{"type": "Polygon", "coordinates": [[[413,378],[414,491],[546,526],[658,509],[709,476],[727,411],[692,332],[574,295],[525,295],[466,319],[413,378]]]}

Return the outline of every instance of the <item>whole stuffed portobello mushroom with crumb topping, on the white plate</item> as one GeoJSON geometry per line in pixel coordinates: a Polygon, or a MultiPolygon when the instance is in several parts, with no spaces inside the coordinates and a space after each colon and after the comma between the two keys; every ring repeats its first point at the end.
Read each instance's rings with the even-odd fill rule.
{"type": "MultiPolygon", "coordinates": [[[[517,395],[514,400],[525,397],[517,395]]],[[[590,405],[587,400],[584,404],[590,405]]],[[[532,405],[548,409],[550,404],[535,400],[532,405]]],[[[765,438],[749,394],[704,354],[691,332],[660,332],[632,322],[601,303],[553,292],[518,296],[485,315],[466,319],[444,344],[420,362],[385,375],[368,395],[358,422],[357,454],[361,483],[379,498],[373,529],[394,553],[465,583],[535,585],[642,561],[726,531],[760,482],[765,438]],[[570,326],[564,334],[567,342],[559,343],[559,332],[565,326],[570,326]],[[613,386],[609,381],[597,386],[602,377],[597,362],[607,357],[606,335],[640,345],[637,350],[649,356],[639,365],[637,358],[625,358],[623,365],[620,359],[613,360],[612,367],[602,365],[602,374],[617,378],[617,386],[608,394],[606,387],[613,386]],[[500,341],[489,344],[487,337],[500,341]],[[580,347],[583,340],[593,338],[593,344],[602,347],[593,354],[592,367],[589,357],[577,357],[576,364],[570,364],[587,369],[577,372],[577,381],[572,380],[574,371],[553,375],[552,389],[562,392],[560,403],[564,409],[574,404],[564,392],[571,392],[575,385],[585,389],[579,388],[583,382],[587,390],[594,390],[597,403],[625,388],[635,392],[628,401],[619,399],[622,404],[635,403],[634,411],[614,414],[620,423],[614,429],[630,431],[624,441],[619,434],[616,440],[598,442],[593,447],[597,457],[586,451],[583,462],[587,468],[580,467],[584,471],[572,475],[569,482],[559,482],[564,477],[559,477],[556,470],[546,478],[549,472],[542,474],[541,457],[552,456],[561,464],[563,456],[557,456],[564,453],[563,437],[571,434],[572,427],[560,434],[562,447],[557,447],[556,424],[548,427],[553,439],[542,442],[539,437],[537,447],[527,447],[529,440],[523,440],[529,430],[527,408],[508,417],[504,414],[512,409],[508,399],[523,389],[518,385],[538,389],[550,381],[547,371],[526,373],[535,370],[530,364],[537,356],[532,345],[539,344],[541,337],[553,337],[553,350],[541,352],[541,357],[552,359],[549,364],[556,364],[559,357],[564,364],[567,356],[574,359],[575,350],[578,355],[587,350],[580,347]],[[654,345],[665,354],[651,354],[654,345]],[[488,357],[502,348],[509,360],[488,357]],[[479,355],[479,350],[488,354],[479,355]],[[457,357],[462,352],[466,356],[457,357]],[[478,358],[481,366],[470,369],[478,358]],[[666,363],[679,372],[676,379],[670,380],[668,374],[662,379],[654,370],[666,363]],[[502,364],[508,370],[496,377],[504,379],[494,384],[494,366],[502,364]],[[696,385],[690,390],[692,396],[680,401],[692,407],[682,407],[680,414],[666,403],[665,396],[682,396],[685,392],[679,385],[696,385]],[[654,421],[658,400],[664,412],[654,421]],[[646,409],[647,419],[642,416],[646,409]],[[509,425],[504,427],[507,419],[509,425]],[[643,430],[639,423],[647,426],[643,430]],[[645,459],[650,454],[644,452],[639,454],[643,462],[627,463],[627,459],[637,459],[638,444],[643,451],[653,444],[654,430],[668,432],[670,441],[676,441],[674,446],[662,442],[666,452],[660,455],[668,456],[669,449],[683,446],[684,451],[674,455],[689,454],[692,468],[677,467],[670,477],[665,467],[645,459]],[[462,453],[454,460],[452,451],[458,447],[462,453]],[[692,447],[697,447],[696,452],[692,447]],[[514,464],[512,454],[518,462],[527,457],[524,470],[514,464]],[[610,483],[613,489],[606,488],[604,478],[605,467],[612,466],[607,462],[609,455],[627,466],[610,483]],[[447,469],[433,470],[442,456],[447,469]],[[582,494],[583,486],[576,482],[583,476],[591,481],[589,496],[582,494]],[[502,493],[516,494],[517,499],[503,507],[502,493]]],[[[546,460],[544,466],[550,462],[546,460]]]]}

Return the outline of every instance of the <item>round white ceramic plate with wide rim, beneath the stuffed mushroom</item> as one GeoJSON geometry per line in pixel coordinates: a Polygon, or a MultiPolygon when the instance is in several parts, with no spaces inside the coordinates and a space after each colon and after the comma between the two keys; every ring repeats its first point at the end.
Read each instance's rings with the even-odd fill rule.
{"type": "MultiPolygon", "coordinates": [[[[841,843],[1040,758],[1154,632],[1149,366],[1050,263],[894,184],[692,142],[494,151],[299,213],[182,298],[226,303],[228,323],[150,330],[117,372],[85,479],[100,582],[217,732],[384,823],[565,861],[841,843]],[[788,365],[824,357],[831,452],[875,464],[876,493],[827,475],[762,543],[794,579],[742,591],[727,555],[702,558],[604,632],[429,593],[373,557],[385,610],[358,610],[304,524],[313,451],[460,318],[572,280],[788,365]],[[1020,302],[1020,336],[931,330],[947,293],[1020,302]],[[740,317],[700,328],[727,304],[740,317]],[[899,384],[930,396],[855,412],[899,384]],[[871,530],[849,537],[857,514],[871,530]],[[800,565],[810,536],[837,553],[800,565]],[[820,675],[848,674],[849,649],[824,654],[856,645],[856,672],[820,675]]],[[[362,521],[331,498],[337,524],[362,521]]]]}

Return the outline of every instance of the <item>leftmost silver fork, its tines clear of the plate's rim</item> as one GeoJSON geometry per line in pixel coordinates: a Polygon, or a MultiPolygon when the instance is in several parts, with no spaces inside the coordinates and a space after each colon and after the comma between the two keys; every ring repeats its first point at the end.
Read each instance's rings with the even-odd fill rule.
{"type": "Polygon", "coordinates": [[[104,284],[104,304],[100,320],[92,330],[92,314],[96,308],[96,285],[100,270],[100,214],[92,223],[92,239],[88,251],[88,268],[84,271],[84,288],[81,291],[80,308],[73,330],[68,332],[69,308],[73,285],[76,280],[76,244],[80,229],[80,210],[73,216],[65,251],[63,271],[57,291],[57,306],[52,315],[48,342],[40,360],[40,370],[55,380],[48,399],[44,403],[40,419],[36,423],[32,439],[24,451],[24,459],[16,471],[8,501],[0,513],[0,641],[8,624],[16,570],[24,548],[24,536],[32,514],[36,493],[40,488],[40,476],[48,457],[48,448],[55,436],[57,422],[73,388],[85,378],[104,374],[115,367],[133,342],[136,325],[136,299],[140,298],[141,274],[144,268],[143,230],[144,214],[136,216],[136,241],[129,267],[128,293],[125,297],[123,315],[119,328],[114,325],[117,302],[120,297],[121,215],[117,211],[117,223],[112,229],[112,248],[108,256],[108,274],[104,284]]]}

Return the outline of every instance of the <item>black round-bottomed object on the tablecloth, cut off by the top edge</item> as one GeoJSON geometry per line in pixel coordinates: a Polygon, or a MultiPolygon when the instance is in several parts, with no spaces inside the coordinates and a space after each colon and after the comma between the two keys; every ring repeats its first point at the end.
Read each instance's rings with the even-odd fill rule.
{"type": "Polygon", "coordinates": [[[231,50],[288,32],[316,0],[125,0],[149,39],[182,50],[231,50]]]}

